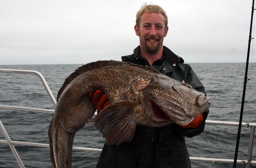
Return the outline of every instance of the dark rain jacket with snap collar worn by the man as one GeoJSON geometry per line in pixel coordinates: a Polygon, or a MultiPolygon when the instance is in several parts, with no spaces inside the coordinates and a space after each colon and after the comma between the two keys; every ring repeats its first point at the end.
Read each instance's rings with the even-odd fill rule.
{"type": "MultiPolygon", "coordinates": [[[[138,55],[139,46],[132,55],[123,56],[122,61],[150,66],[138,55]]],[[[164,46],[163,64],[154,65],[160,73],[193,86],[197,91],[205,88],[189,64],[164,46]]],[[[204,112],[205,119],[209,111],[204,112]]],[[[204,130],[205,121],[195,129],[185,129],[172,123],[164,127],[137,125],[131,142],[119,145],[104,145],[96,168],[190,168],[185,137],[194,137],[204,130]]]]}

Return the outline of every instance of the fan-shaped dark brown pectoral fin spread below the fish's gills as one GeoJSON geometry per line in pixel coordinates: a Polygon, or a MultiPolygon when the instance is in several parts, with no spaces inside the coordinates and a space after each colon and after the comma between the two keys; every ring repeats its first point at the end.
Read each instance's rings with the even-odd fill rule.
{"type": "Polygon", "coordinates": [[[133,107],[137,102],[118,101],[108,105],[94,119],[96,128],[103,133],[107,144],[120,144],[132,140],[136,130],[133,107]]]}

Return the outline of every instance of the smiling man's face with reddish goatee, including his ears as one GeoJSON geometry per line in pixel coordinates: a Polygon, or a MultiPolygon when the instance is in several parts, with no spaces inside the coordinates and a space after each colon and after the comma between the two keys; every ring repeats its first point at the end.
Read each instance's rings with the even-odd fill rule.
{"type": "Polygon", "coordinates": [[[168,27],[164,27],[164,16],[157,13],[143,13],[139,22],[134,27],[139,36],[140,47],[149,54],[155,54],[163,46],[168,27]]]}

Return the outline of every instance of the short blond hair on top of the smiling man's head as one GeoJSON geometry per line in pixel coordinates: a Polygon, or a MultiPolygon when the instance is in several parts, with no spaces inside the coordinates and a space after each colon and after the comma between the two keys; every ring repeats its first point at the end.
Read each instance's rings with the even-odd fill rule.
{"type": "Polygon", "coordinates": [[[168,18],[163,8],[161,8],[158,5],[147,5],[147,3],[141,5],[141,9],[137,12],[136,25],[139,27],[139,22],[141,21],[141,15],[143,13],[152,13],[152,12],[158,13],[158,14],[160,13],[164,16],[164,26],[165,28],[167,28],[168,18]]]}

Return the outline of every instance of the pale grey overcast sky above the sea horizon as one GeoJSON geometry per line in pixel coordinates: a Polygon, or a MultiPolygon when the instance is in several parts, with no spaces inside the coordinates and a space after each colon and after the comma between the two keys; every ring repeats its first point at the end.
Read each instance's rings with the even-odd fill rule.
{"type": "MultiPolygon", "coordinates": [[[[143,2],[1,0],[0,65],[121,60],[139,45],[134,25],[143,2]]],[[[252,0],[150,2],[168,16],[164,46],[185,63],[246,62],[252,0]]]]}

